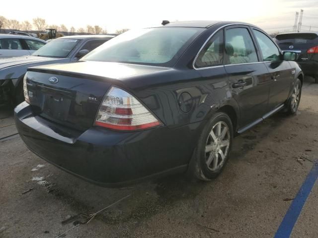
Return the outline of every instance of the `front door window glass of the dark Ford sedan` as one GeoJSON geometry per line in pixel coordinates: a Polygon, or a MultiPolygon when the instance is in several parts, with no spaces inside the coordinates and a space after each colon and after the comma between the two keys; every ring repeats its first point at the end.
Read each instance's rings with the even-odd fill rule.
{"type": "Polygon", "coordinates": [[[253,30],[259,45],[260,51],[263,55],[263,61],[277,61],[280,60],[279,50],[275,44],[263,33],[253,30]]]}

